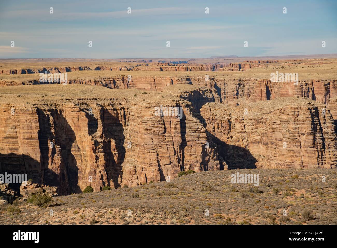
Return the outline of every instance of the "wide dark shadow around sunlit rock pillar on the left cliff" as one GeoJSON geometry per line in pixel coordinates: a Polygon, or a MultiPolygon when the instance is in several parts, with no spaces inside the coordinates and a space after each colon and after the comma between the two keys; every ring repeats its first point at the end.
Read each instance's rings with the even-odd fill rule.
{"type": "Polygon", "coordinates": [[[50,116],[46,115],[41,109],[37,109],[37,113],[40,126],[38,139],[43,183],[57,186],[61,195],[81,193],[82,190],[78,186],[79,168],[71,151],[76,139],[74,131],[63,114],[57,110],[51,110],[50,116]],[[54,124],[55,136],[51,131],[51,120],[54,124]],[[52,143],[49,141],[52,141],[52,143]],[[56,149],[56,147],[59,147],[59,149],[56,149]],[[54,167],[58,174],[50,166],[54,167]]]}

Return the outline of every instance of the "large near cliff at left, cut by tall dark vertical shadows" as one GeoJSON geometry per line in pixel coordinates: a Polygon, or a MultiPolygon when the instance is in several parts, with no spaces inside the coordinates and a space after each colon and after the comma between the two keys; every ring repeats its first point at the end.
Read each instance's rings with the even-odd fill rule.
{"type": "Polygon", "coordinates": [[[27,173],[70,194],[88,185],[97,191],[170,180],[182,169],[222,168],[197,112],[189,102],[169,97],[2,102],[1,171],[27,173]],[[160,105],[181,106],[182,118],[156,116],[160,105]]]}

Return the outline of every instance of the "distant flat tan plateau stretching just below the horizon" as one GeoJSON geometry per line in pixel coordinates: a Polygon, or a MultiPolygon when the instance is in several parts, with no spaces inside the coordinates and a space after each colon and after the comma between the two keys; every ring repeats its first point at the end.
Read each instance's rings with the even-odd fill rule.
{"type": "MultiPolygon", "coordinates": [[[[43,69],[43,68],[64,68],[72,66],[87,66],[89,70],[69,71],[68,80],[72,79],[106,79],[111,77],[121,77],[131,75],[132,77],[184,77],[184,76],[196,76],[205,77],[208,74],[210,77],[225,77],[225,78],[252,78],[252,79],[269,79],[271,73],[276,71],[282,73],[298,73],[299,80],[319,80],[319,79],[337,79],[337,59],[310,59],[310,60],[282,60],[277,63],[265,63],[261,67],[252,67],[245,69],[244,71],[175,71],[164,70],[159,71],[160,65],[156,63],[130,63],[130,62],[30,62],[30,63],[13,63],[12,61],[4,62],[0,60],[0,71],[14,70],[14,69],[43,69]],[[136,66],[138,65],[138,66],[136,66]],[[112,70],[95,70],[97,66],[112,67],[112,70]],[[117,70],[116,67],[126,67],[129,70],[117,70]],[[137,70],[141,69],[141,70],[137,70]]],[[[222,62],[232,63],[231,61],[222,62]]],[[[248,62],[240,62],[248,64],[248,62]]],[[[188,64],[171,64],[174,68],[176,66],[181,67],[193,67],[193,66],[208,66],[211,64],[193,63],[188,64]]],[[[213,64],[214,65],[214,64],[213,64]]],[[[220,65],[220,64],[219,64],[220,65]]],[[[255,64],[256,65],[256,64],[255,64]]],[[[29,74],[0,74],[0,81],[29,81],[38,80],[40,78],[39,73],[29,74]]]]}

